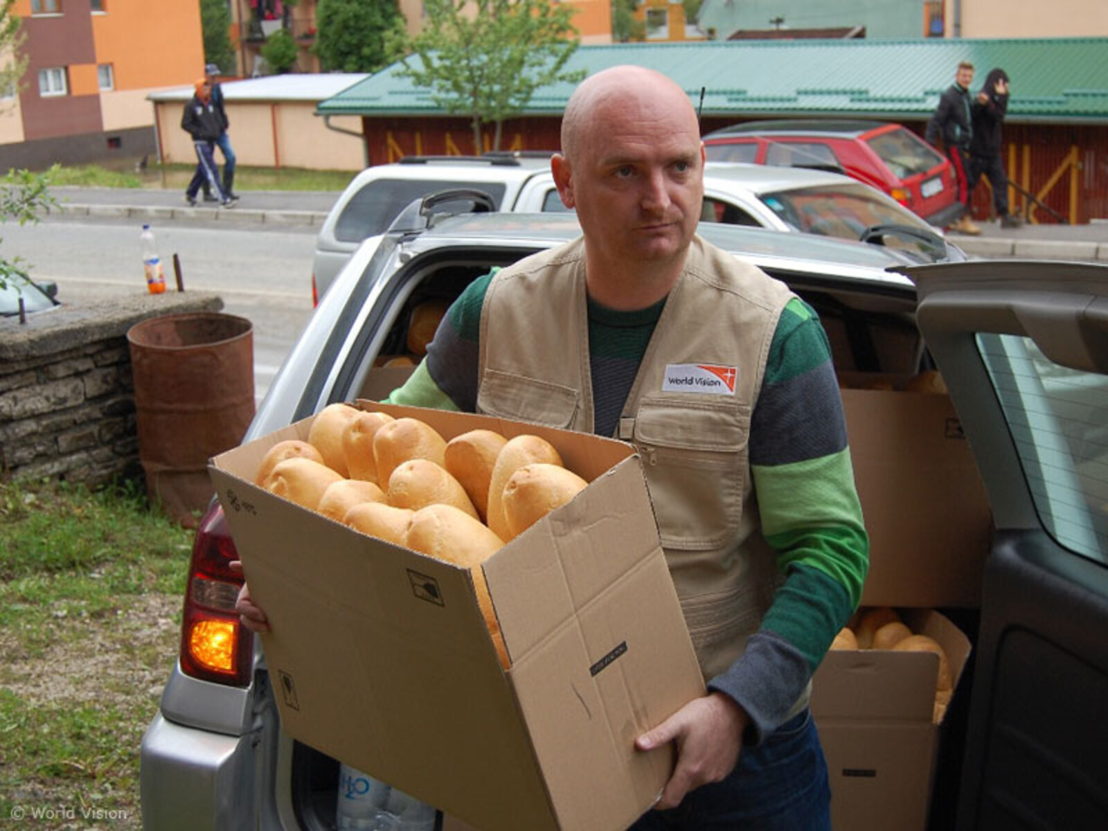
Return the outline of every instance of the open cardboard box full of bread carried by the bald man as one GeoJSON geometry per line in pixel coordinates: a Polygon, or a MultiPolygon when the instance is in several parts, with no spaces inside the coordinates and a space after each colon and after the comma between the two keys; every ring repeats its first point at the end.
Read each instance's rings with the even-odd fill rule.
{"type": "Polygon", "coordinates": [[[294,738],[482,829],[623,829],[655,801],[670,749],[635,738],[704,694],[640,462],[622,442],[378,406],[447,439],[474,428],[551,441],[589,481],[484,564],[504,671],[472,576],[252,484],[311,420],[212,460],[281,726],[294,738]]]}

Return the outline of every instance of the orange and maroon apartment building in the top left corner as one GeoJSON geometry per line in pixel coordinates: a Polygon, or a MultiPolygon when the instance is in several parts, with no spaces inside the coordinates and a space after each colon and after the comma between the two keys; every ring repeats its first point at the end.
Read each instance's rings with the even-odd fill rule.
{"type": "Polygon", "coordinates": [[[0,168],[155,154],[146,95],[204,72],[197,0],[17,0],[28,58],[0,102],[0,168]]]}

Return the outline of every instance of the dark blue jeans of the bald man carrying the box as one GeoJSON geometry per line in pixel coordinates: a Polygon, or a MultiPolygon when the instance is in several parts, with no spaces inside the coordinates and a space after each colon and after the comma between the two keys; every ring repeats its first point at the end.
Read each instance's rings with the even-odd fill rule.
{"type": "Polygon", "coordinates": [[[630,831],[831,831],[827,761],[808,710],[786,721],[721,782],[677,808],[647,811],[630,831]]]}

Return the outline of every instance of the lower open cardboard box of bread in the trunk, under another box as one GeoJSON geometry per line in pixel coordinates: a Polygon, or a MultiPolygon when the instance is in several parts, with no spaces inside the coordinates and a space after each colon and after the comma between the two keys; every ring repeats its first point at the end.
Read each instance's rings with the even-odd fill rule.
{"type": "MultiPolygon", "coordinates": [[[[970,642],[934,611],[902,609],[913,633],[946,652],[957,689],[970,642]]],[[[828,653],[812,681],[812,716],[831,780],[831,820],[850,831],[924,831],[942,725],[933,721],[938,656],[828,653]]]]}

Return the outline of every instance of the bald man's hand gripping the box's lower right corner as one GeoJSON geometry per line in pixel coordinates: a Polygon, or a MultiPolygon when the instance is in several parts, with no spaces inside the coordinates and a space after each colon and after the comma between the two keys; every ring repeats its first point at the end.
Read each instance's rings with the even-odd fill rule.
{"type": "Polygon", "coordinates": [[[681,707],[635,740],[639,750],[677,742],[677,767],[655,808],[676,808],[685,794],[718,782],[735,769],[742,749],[742,731],[750,718],[722,693],[709,693],[681,707]]]}

